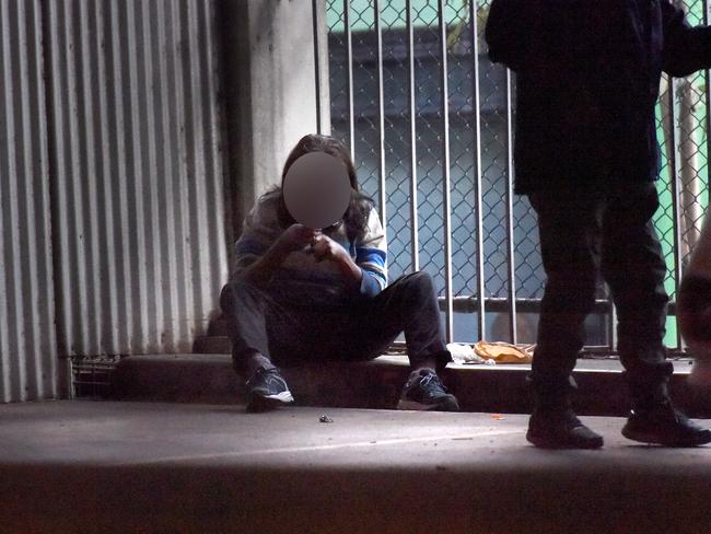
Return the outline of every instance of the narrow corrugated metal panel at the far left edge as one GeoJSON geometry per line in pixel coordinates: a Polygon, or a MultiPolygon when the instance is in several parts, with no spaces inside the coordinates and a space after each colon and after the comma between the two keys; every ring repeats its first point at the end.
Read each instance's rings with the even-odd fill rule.
{"type": "Polygon", "coordinates": [[[37,0],[0,0],[0,402],[57,395],[37,0]]]}

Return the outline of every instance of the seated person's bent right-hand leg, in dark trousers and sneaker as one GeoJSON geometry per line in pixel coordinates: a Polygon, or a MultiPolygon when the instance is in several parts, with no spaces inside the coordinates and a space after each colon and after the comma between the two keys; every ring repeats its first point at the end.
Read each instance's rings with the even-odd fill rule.
{"type": "Polygon", "coordinates": [[[430,275],[420,271],[400,277],[375,298],[358,304],[350,315],[349,329],[350,335],[343,336],[348,343],[339,349],[348,359],[374,358],[405,333],[412,372],[403,391],[400,409],[459,409],[436,374],[452,361],[452,355],[444,343],[430,275]]]}

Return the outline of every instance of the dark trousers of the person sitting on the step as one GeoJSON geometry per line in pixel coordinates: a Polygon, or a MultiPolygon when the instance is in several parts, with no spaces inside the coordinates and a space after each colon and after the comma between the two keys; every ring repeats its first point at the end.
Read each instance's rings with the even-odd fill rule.
{"type": "Polygon", "coordinates": [[[240,374],[255,351],[283,365],[373,359],[403,332],[411,365],[434,357],[442,369],[451,361],[436,294],[426,272],[404,276],[375,298],[342,307],[290,302],[270,293],[268,287],[259,289],[243,280],[223,288],[220,304],[230,324],[232,357],[240,374]]]}

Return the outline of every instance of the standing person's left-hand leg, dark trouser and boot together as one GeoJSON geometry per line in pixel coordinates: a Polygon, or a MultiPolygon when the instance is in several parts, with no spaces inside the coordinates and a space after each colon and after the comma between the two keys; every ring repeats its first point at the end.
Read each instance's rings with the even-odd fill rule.
{"type": "Polygon", "coordinates": [[[575,417],[570,394],[578,352],[585,340],[584,321],[597,288],[601,199],[593,191],[529,195],[538,216],[547,275],[531,382],[535,405],[528,441],[543,448],[598,448],[603,439],[575,417]]]}

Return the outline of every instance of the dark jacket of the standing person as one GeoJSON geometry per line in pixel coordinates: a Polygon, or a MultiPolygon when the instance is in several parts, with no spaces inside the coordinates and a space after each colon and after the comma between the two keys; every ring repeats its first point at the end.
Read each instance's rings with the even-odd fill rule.
{"type": "Polygon", "coordinates": [[[668,0],[493,0],[489,56],[516,72],[515,190],[652,181],[662,71],[711,65],[668,0]]]}

